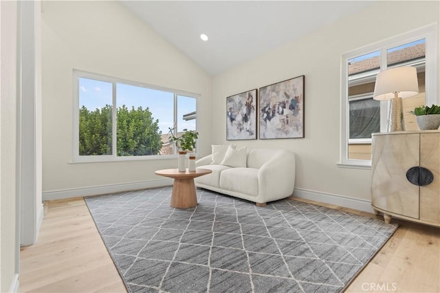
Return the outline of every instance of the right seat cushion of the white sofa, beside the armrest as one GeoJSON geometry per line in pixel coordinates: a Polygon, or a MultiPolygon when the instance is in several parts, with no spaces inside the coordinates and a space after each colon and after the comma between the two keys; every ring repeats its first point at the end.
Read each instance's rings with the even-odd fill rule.
{"type": "MultiPolygon", "coordinates": [[[[245,195],[258,195],[259,169],[231,168],[223,170],[220,175],[220,188],[245,195]]],[[[203,176],[202,176],[203,177],[203,176]]]]}

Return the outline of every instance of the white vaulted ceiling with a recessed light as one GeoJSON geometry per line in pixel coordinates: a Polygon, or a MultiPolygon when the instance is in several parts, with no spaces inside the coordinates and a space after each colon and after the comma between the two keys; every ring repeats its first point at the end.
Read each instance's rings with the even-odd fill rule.
{"type": "Polygon", "coordinates": [[[252,60],[373,1],[122,1],[212,75],[252,60]],[[201,41],[207,34],[208,41],[201,41]]]}

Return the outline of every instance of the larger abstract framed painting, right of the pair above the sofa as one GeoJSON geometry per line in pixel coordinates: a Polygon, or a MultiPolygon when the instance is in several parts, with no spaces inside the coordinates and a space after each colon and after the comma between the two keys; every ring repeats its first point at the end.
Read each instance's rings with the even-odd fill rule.
{"type": "Polygon", "coordinates": [[[261,87],[260,139],[304,138],[305,76],[261,87]]]}

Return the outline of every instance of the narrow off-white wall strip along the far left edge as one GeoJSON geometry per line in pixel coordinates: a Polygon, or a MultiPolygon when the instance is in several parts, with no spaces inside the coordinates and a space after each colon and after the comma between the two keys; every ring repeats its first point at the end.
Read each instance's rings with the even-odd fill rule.
{"type": "Polygon", "coordinates": [[[17,2],[0,1],[0,292],[18,290],[17,2]]]}

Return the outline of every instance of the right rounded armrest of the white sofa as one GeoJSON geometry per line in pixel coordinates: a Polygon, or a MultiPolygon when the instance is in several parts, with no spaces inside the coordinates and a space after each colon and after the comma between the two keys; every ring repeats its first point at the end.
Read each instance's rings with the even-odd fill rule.
{"type": "Polygon", "coordinates": [[[274,156],[259,170],[259,199],[265,202],[267,196],[289,196],[295,186],[295,155],[285,151],[274,156]]]}

